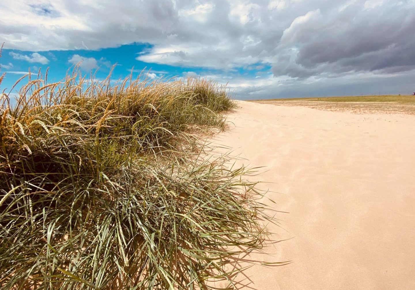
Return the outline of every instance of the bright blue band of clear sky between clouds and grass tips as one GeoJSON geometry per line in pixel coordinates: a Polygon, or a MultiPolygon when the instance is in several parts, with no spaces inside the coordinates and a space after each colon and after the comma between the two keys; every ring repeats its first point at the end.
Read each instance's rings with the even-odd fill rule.
{"type": "MultiPolygon", "coordinates": [[[[232,78],[244,76],[245,78],[258,78],[258,76],[271,75],[269,64],[253,63],[249,66],[234,67],[230,70],[205,68],[198,66],[172,66],[163,63],[151,63],[139,60],[140,56],[149,54],[151,44],[126,44],[115,48],[103,48],[98,50],[50,50],[50,51],[21,51],[16,49],[3,49],[1,65],[3,73],[6,73],[2,83],[2,89],[12,88],[17,80],[28,73],[42,73],[49,68],[49,82],[58,82],[64,78],[67,71],[80,64],[83,74],[96,73],[95,79],[105,79],[111,68],[113,79],[126,78],[133,74],[137,77],[140,73],[148,78],[166,80],[187,76],[207,77],[220,79],[222,83],[231,81],[232,78]]],[[[33,77],[32,77],[33,78],[33,77]]],[[[22,84],[25,80],[21,81],[22,84]]],[[[19,88],[17,86],[16,88],[19,88]]],[[[6,90],[8,92],[8,90],[6,90]]],[[[17,89],[12,93],[17,93],[17,89]]]]}

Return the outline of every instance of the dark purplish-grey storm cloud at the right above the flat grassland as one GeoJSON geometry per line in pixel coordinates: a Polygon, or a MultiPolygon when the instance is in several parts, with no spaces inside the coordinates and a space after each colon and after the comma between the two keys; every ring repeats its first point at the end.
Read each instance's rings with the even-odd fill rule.
{"type": "MultiPolygon", "coordinates": [[[[298,27],[295,64],[279,73],[312,76],[339,71],[406,71],[415,64],[415,15],[398,2],[375,11],[355,4],[335,15],[321,15],[298,27]],[[376,13],[376,15],[375,15],[376,13]],[[317,23],[316,23],[317,22],[317,23]],[[308,71],[308,74],[307,74],[308,71]]],[[[278,66],[278,65],[276,65],[278,66]]]]}

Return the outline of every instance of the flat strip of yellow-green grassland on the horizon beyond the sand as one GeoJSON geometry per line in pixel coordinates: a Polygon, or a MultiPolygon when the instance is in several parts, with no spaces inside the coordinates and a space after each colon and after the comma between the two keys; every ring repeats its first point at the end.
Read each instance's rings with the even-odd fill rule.
{"type": "Polygon", "coordinates": [[[318,110],[353,112],[356,114],[387,113],[415,115],[415,96],[410,95],[314,97],[252,100],[251,102],[281,106],[310,107],[318,110]]]}

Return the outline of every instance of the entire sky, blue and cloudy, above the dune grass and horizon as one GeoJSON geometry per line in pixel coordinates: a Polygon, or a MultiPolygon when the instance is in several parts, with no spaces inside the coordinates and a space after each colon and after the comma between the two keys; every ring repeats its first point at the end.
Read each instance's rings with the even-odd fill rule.
{"type": "MultiPolygon", "coordinates": [[[[3,0],[0,90],[61,80],[207,77],[239,100],[415,91],[415,0],[3,0]]],[[[16,89],[12,91],[16,93],[16,89]]]]}

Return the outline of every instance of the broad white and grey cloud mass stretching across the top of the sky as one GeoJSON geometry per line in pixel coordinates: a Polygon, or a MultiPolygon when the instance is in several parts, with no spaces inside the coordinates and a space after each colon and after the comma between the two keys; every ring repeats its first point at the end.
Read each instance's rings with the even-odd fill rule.
{"type": "MultiPolygon", "coordinates": [[[[381,80],[415,69],[414,0],[37,3],[0,2],[6,48],[100,49],[142,42],[152,46],[137,55],[139,61],[225,73],[266,65],[273,78],[306,85],[308,79],[327,85],[361,73],[381,80]]],[[[83,60],[85,69],[100,65],[79,55],[71,59],[83,60]]],[[[264,85],[264,77],[252,79],[264,85]]]]}

